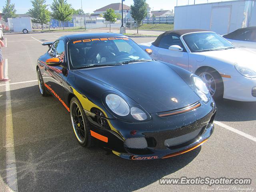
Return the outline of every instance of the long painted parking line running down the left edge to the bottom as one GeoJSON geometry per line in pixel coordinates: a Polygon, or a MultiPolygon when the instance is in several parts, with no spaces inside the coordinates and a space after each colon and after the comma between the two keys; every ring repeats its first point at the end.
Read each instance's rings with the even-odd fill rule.
{"type": "MultiPolygon", "coordinates": [[[[8,59],[5,59],[5,77],[8,78],[8,59]]],[[[12,100],[10,84],[6,82],[6,183],[13,191],[18,191],[16,158],[12,124],[12,100]]]]}

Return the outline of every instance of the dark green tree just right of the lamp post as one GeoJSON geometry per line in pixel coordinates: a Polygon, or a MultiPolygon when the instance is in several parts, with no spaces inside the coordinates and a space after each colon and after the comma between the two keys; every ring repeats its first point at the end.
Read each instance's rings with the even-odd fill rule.
{"type": "Polygon", "coordinates": [[[131,11],[132,18],[134,18],[134,21],[137,23],[137,33],[139,33],[139,26],[142,20],[147,16],[146,0],[133,0],[131,11]]]}

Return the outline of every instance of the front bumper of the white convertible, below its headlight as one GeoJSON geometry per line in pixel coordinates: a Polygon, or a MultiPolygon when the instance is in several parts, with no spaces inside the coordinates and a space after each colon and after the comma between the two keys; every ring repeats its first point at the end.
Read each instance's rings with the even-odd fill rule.
{"type": "Polygon", "coordinates": [[[256,78],[239,76],[222,79],[224,98],[236,101],[256,101],[256,97],[252,96],[252,88],[256,87],[256,78]]]}

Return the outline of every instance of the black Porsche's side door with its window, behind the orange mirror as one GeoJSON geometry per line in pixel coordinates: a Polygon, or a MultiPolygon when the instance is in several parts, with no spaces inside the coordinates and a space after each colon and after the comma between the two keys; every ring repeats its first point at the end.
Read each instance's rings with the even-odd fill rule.
{"type": "Polygon", "coordinates": [[[63,66],[66,66],[65,60],[65,46],[63,40],[57,40],[54,42],[49,49],[48,53],[46,53],[45,60],[48,58],[60,58],[62,61],[62,66],[49,66],[47,64],[44,65],[44,83],[48,85],[50,91],[57,98],[62,98],[62,79],[63,79],[63,66]]]}

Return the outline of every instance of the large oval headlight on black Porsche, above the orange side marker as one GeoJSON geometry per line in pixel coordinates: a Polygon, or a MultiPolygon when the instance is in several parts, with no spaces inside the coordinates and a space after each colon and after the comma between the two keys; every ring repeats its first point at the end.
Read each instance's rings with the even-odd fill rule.
{"type": "Polygon", "coordinates": [[[130,107],[127,102],[116,94],[108,94],[106,96],[106,104],[112,112],[119,116],[126,116],[130,113],[130,107]]]}

